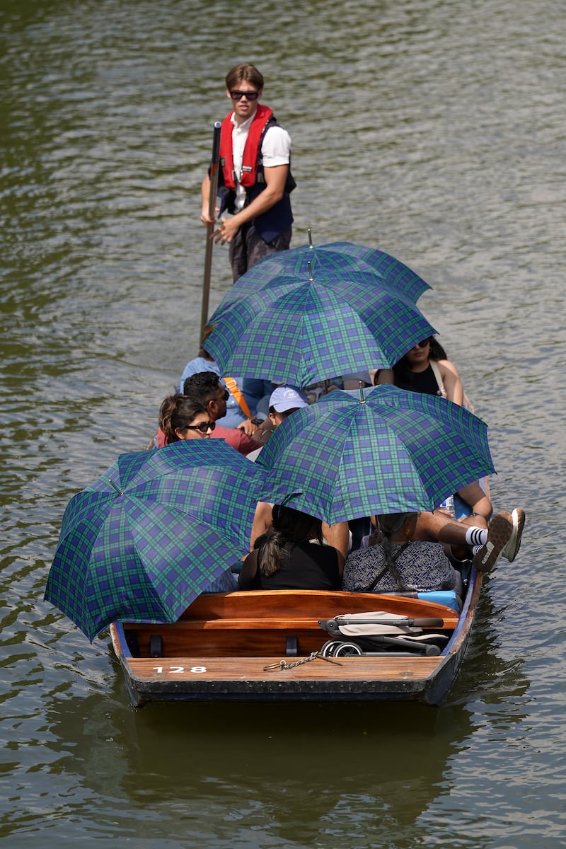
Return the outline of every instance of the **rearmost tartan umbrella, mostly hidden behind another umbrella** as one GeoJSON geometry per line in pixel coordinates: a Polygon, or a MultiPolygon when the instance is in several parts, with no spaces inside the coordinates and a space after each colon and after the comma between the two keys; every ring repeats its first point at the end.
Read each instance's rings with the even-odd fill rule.
{"type": "Polygon", "coordinates": [[[250,292],[254,286],[261,289],[280,274],[305,274],[309,262],[315,273],[327,273],[329,276],[344,276],[352,271],[375,273],[395,291],[415,302],[430,289],[429,284],[411,268],[383,250],[352,242],[328,242],[327,245],[301,245],[266,256],[236,281],[232,291],[244,287],[250,292]]]}

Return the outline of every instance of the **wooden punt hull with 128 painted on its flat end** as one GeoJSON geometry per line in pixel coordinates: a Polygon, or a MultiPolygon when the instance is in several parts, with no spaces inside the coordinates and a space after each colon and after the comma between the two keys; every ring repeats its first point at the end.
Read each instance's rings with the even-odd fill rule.
{"type": "Polygon", "coordinates": [[[481,576],[473,571],[459,616],[443,604],[375,593],[209,593],[174,624],[115,623],[110,633],[134,706],[152,700],[379,699],[436,705],[462,663],[480,588],[481,576]],[[319,620],[375,610],[441,619],[434,631],[450,639],[433,657],[383,653],[340,657],[339,664],[316,657],[292,666],[328,640],[319,620]],[[161,656],[152,657],[155,639],[161,656]],[[266,669],[271,664],[275,668],[266,669]]]}

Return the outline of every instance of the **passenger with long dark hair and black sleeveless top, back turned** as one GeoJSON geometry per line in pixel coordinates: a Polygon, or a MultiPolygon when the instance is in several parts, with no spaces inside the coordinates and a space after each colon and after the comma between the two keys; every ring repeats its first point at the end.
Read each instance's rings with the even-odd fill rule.
{"type": "Polygon", "coordinates": [[[238,589],[339,589],[344,555],[320,543],[320,519],[276,504],[272,525],[244,560],[238,589]]]}

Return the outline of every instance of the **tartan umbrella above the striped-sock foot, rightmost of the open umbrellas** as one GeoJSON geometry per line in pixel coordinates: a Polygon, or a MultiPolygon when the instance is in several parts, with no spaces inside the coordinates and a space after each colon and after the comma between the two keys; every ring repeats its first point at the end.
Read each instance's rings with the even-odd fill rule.
{"type": "Polygon", "coordinates": [[[263,501],[327,521],[431,510],[493,472],[485,422],[445,398],[391,385],[329,392],[292,413],[256,461],[263,501]]]}

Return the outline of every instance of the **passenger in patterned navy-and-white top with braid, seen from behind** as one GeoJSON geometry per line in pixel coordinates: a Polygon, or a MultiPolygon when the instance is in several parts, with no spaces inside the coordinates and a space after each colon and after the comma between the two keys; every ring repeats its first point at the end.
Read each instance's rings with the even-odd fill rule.
{"type": "Polygon", "coordinates": [[[378,541],[348,555],[342,589],[356,593],[395,593],[453,589],[462,594],[462,577],[440,543],[412,542],[417,513],[378,516],[378,541]]]}

